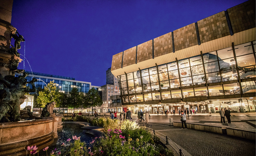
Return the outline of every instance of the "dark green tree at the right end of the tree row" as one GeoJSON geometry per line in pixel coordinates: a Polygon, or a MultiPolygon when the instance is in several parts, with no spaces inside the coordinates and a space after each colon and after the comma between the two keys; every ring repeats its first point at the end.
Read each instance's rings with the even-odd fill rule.
{"type": "Polygon", "coordinates": [[[84,108],[92,107],[93,112],[93,107],[100,107],[101,105],[102,99],[100,98],[99,92],[95,88],[90,89],[88,93],[85,94],[84,108]]]}

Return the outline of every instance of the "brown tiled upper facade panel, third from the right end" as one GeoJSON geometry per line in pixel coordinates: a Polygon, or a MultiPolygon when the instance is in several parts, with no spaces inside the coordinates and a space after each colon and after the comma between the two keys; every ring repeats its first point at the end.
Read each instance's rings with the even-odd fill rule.
{"type": "Polygon", "coordinates": [[[175,51],[198,45],[195,23],[174,30],[173,34],[175,51]]]}

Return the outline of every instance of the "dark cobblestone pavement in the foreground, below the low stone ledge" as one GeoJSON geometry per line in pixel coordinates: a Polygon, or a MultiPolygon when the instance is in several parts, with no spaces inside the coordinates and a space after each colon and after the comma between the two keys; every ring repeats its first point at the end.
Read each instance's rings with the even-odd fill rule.
{"type": "Polygon", "coordinates": [[[155,129],[156,133],[168,136],[194,156],[255,155],[255,141],[172,126],[154,124],[145,126],[155,129]]]}

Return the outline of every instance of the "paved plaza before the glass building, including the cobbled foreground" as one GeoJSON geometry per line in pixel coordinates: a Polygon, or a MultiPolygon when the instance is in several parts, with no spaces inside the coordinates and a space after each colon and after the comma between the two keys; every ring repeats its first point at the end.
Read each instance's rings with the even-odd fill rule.
{"type": "MultiPolygon", "coordinates": [[[[133,119],[136,117],[134,114],[133,119]]],[[[187,117],[186,122],[213,126],[224,124],[241,130],[255,131],[255,117],[256,113],[231,113],[231,123],[226,125],[227,123],[220,123],[219,113],[195,114],[187,117]]],[[[169,118],[173,118],[176,122],[180,121],[178,114],[175,116],[151,114],[149,124],[145,124],[143,120],[139,124],[154,129],[156,133],[168,136],[183,150],[185,155],[255,155],[255,141],[169,126],[169,118]]]]}

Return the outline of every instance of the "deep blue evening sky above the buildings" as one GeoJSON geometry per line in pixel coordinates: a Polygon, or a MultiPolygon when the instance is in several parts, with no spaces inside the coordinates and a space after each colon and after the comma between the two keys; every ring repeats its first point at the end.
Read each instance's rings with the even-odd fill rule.
{"type": "Polygon", "coordinates": [[[33,72],[102,86],[113,55],[245,1],[14,0],[11,25],[33,72]]]}

